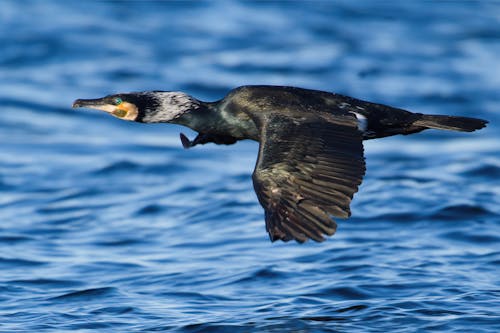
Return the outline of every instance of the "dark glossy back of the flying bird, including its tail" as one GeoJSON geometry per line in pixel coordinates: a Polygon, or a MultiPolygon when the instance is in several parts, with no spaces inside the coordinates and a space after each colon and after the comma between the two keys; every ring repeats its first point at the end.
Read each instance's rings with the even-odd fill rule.
{"type": "Polygon", "coordinates": [[[287,86],[242,86],[232,90],[222,104],[230,113],[239,114],[238,119],[252,119],[256,127],[270,118],[277,119],[276,116],[297,121],[308,115],[319,116],[340,125],[356,118],[364,140],[412,134],[428,128],[470,132],[486,124],[480,119],[428,116],[341,94],[287,86]]]}

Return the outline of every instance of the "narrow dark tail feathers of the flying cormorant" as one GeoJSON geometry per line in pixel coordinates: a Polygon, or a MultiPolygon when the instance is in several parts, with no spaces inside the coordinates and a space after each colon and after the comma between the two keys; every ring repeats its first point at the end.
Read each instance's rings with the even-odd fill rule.
{"type": "Polygon", "coordinates": [[[412,125],[449,131],[473,132],[485,127],[487,123],[488,121],[477,118],[423,114],[412,125]]]}

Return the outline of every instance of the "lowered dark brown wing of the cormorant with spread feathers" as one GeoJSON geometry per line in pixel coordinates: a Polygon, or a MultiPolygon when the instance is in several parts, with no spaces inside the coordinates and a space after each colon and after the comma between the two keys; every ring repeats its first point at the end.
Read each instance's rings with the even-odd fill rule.
{"type": "Polygon", "coordinates": [[[365,173],[354,117],[272,116],[261,126],[252,176],[271,241],[317,242],[333,235],[330,215],[347,218],[365,173]]]}

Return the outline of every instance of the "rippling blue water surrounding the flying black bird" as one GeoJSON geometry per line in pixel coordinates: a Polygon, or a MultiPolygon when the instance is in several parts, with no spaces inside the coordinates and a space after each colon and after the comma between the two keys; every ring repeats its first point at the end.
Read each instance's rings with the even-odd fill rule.
{"type": "Polygon", "coordinates": [[[499,332],[499,55],[498,2],[2,1],[0,331],[499,332]],[[352,218],[299,245],[256,143],[70,108],[243,84],[490,124],[367,142],[352,218]]]}

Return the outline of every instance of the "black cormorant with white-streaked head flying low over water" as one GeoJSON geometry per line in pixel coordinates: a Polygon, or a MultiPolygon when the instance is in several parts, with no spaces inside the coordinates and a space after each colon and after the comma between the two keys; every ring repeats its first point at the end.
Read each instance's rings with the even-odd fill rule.
{"type": "Polygon", "coordinates": [[[365,174],[363,140],[433,128],[472,132],[487,121],[425,115],[339,94],[279,86],[243,86],[217,102],[182,92],[151,91],[78,99],[74,108],[106,111],[142,123],[187,126],[184,148],[198,144],[260,143],[252,175],[271,241],[333,235],[331,216],[347,218],[365,174]]]}

